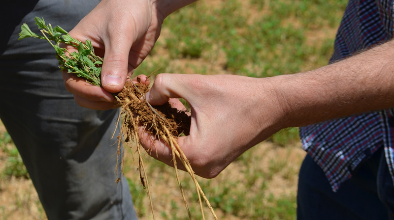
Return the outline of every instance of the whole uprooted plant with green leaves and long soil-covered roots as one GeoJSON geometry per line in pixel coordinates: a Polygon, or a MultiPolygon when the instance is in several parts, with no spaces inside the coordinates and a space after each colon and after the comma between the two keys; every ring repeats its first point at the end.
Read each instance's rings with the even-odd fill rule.
{"type": "MultiPolygon", "coordinates": [[[[38,17],[35,17],[35,24],[40,28],[42,35],[34,33],[27,24],[23,24],[19,34],[19,40],[33,37],[48,41],[56,51],[56,58],[59,60],[61,70],[76,74],[88,83],[101,86],[100,73],[103,58],[95,55],[95,50],[90,40],[86,40],[86,42],[83,43],[72,38],[62,27],[52,27],[50,24],[46,25],[44,19],[38,17]],[[76,51],[70,52],[66,48],[61,47],[61,44],[71,45],[76,48],[76,51]]],[[[137,79],[137,81],[138,83],[127,81],[121,92],[113,94],[121,105],[121,114],[119,115],[118,122],[119,119],[123,117],[120,135],[118,136],[117,165],[123,165],[123,159],[119,160],[121,147],[120,142],[122,139],[124,139],[125,142],[131,142],[134,140],[137,144],[136,152],[139,158],[138,164],[141,184],[148,194],[152,215],[153,218],[155,218],[153,202],[149,191],[148,178],[143,164],[140,150],[141,146],[138,137],[138,127],[139,125],[142,125],[145,127],[145,132],[152,134],[157,139],[160,138],[164,140],[164,142],[171,147],[176,179],[180,187],[189,218],[192,219],[192,216],[179,180],[176,163],[177,159],[181,161],[182,165],[186,168],[196,185],[202,216],[204,216],[204,214],[201,196],[205,200],[213,217],[217,219],[211,204],[197,182],[192,166],[177,143],[177,137],[179,137],[181,133],[188,135],[190,130],[190,117],[185,111],[179,111],[172,108],[169,103],[166,103],[163,106],[152,107],[149,103],[144,101],[145,99],[141,100],[145,93],[149,91],[149,88],[144,83],[141,83],[140,79],[137,79]]],[[[115,170],[118,170],[117,167],[115,170]]],[[[118,179],[116,181],[118,181],[118,179]]]]}

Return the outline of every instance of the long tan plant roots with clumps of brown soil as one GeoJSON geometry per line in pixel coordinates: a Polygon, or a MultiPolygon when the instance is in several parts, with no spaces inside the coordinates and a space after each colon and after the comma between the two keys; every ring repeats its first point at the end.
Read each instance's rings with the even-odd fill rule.
{"type": "MultiPolygon", "coordinates": [[[[215,220],[217,220],[218,218],[216,217],[216,214],[210,202],[208,201],[207,197],[205,196],[204,192],[202,191],[201,187],[197,182],[195,173],[189,163],[189,160],[186,158],[185,154],[177,143],[177,137],[179,137],[182,133],[184,135],[189,135],[191,122],[190,116],[185,111],[179,111],[172,108],[169,103],[166,103],[163,106],[151,106],[149,105],[149,103],[144,101],[144,99],[141,100],[141,97],[143,97],[145,93],[149,91],[149,88],[143,83],[141,83],[140,79],[137,78],[137,81],[138,83],[131,83],[128,81],[124,89],[118,94],[116,94],[118,101],[122,105],[121,113],[119,115],[117,123],[119,123],[121,117],[123,118],[120,131],[121,134],[117,137],[119,141],[117,165],[119,160],[119,154],[121,152],[120,141],[122,141],[122,139],[124,139],[126,143],[135,141],[137,144],[136,151],[138,153],[138,165],[141,184],[148,194],[151,204],[152,215],[153,218],[155,218],[153,211],[153,201],[151,198],[151,193],[149,191],[148,177],[143,164],[143,157],[140,150],[140,139],[138,137],[139,126],[144,126],[146,129],[145,132],[151,134],[157,139],[164,140],[164,142],[171,147],[172,161],[175,168],[175,176],[182,194],[182,199],[185,203],[185,207],[189,215],[189,219],[192,219],[192,215],[190,213],[187,199],[179,179],[177,167],[178,160],[185,167],[186,171],[189,173],[193,182],[195,183],[203,220],[205,220],[205,217],[201,196],[207,204],[209,210],[211,211],[212,216],[215,220]]],[[[121,160],[119,165],[123,166],[123,160],[121,160]]],[[[117,167],[116,170],[118,170],[117,167]]]]}

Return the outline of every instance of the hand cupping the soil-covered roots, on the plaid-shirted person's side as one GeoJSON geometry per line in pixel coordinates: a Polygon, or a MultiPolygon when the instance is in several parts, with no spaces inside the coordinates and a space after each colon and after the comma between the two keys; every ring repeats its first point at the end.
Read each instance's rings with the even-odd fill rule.
{"type": "MultiPolygon", "coordinates": [[[[283,128],[285,114],[270,81],[234,75],[160,74],[146,100],[162,105],[169,98],[182,97],[190,104],[190,135],[177,141],[196,174],[213,178],[244,151],[283,128]]],[[[142,128],[140,137],[152,157],[172,165],[169,146],[142,128]]]]}

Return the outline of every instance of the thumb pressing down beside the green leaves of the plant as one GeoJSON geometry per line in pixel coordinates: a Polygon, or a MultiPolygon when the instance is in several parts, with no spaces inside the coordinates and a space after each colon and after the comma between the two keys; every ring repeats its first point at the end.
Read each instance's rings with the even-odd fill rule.
{"type": "MultiPolygon", "coordinates": [[[[119,36],[118,36],[119,37],[119,36]]],[[[129,64],[130,39],[108,40],[101,68],[101,85],[108,92],[120,92],[133,68],[129,64]]]]}

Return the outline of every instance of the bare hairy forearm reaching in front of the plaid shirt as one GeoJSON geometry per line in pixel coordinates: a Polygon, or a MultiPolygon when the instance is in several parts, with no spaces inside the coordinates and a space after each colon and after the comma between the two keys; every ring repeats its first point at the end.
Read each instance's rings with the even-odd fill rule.
{"type": "Polygon", "coordinates": [[[278,77],[287,127],[393,108],[393,58],[391,41],[314,71],[278,77]]]}

